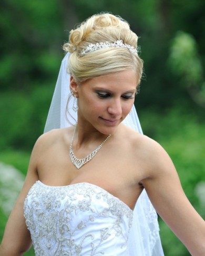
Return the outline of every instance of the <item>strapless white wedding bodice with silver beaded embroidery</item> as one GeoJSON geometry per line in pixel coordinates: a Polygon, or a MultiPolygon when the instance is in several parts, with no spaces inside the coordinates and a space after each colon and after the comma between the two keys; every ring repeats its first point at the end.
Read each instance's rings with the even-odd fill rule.
{"type": "Polygon", "coordinates": [[[127,255],[132,210],[90,184],[30,189],[24,216],[37,256],[127,255]]]}

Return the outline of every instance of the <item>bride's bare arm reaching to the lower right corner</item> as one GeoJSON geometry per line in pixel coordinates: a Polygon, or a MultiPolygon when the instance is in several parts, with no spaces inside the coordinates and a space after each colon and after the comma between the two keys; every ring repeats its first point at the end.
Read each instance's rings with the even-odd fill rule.
{"type": "Polygon", "coordinates": [[[142,180],[159,213],[192,256],[205,255],[205,221],[187,199],[175,167],[156,142],[149,145],[149,177],[142,180]]]}

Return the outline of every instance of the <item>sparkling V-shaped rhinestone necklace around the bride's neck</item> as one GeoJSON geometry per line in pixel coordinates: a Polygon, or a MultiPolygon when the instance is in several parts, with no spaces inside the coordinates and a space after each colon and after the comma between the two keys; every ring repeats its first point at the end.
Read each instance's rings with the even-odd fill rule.
{"type": "Polygon", "coordinates": [[[76,127],[75,127],[71,144],[70,144],[70,159],[71,159],[71,162],[73,162],[73,164],[76,166],[76,168],[80,169],[80,167],[82,167],[83,165],[85,165],[87,162],[89,162],[91,159],[95,157],[97,152],[100,150],[102,145],[106,142],[106,140],[111,136],[111,134],[108,135],[108,137],[104,141],[102,141],[102,143],[93,152],[91,152],[89,155],[87,155],[84,158],[78,159],[73,152],[73,140],[74,140],[75,131],[76,131],[76,127]]]}

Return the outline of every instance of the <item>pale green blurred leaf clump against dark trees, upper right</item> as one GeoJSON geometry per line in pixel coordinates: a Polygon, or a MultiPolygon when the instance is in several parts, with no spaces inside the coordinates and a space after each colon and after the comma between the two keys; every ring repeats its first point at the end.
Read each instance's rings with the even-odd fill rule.
{"type": "Polygon", "coordinates": [[[179,84],[188,90],[195,103],[205,108],[205,82],[197,48],[192,35],[178,32],[172,40],[168,63],[179,84]]]}

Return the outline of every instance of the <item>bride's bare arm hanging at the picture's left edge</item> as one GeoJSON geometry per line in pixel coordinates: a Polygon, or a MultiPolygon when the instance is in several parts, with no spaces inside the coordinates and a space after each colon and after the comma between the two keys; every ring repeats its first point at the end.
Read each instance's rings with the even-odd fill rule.
{"type": "Polygon", "coordinates": [[[32,245],[30,233],[25,223],[23,207],[30,187],[38,180],[37,159],[39,144],[38,140],[30,158],[24,186],[7,221],[2,244],[0,245],[0,256],[23,255],[32,245]]]}

